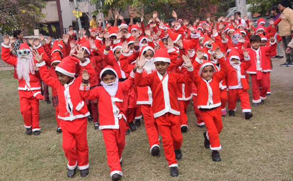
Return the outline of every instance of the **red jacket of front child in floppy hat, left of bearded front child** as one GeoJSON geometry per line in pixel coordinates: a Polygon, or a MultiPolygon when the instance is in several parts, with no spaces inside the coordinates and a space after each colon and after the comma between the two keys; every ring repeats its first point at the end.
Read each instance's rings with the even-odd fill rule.
{"type": "MultiPolygon", "coordinates": [[[[84,118],[89,116],[85,99],[81,96],[80,85],[82,83],[82,77],[73,78],[68,84],[62,85],[58,79],[55,79],[49,75],[49,72],[44,66],[45,63],[37,63],[40,68],[40,74],[42,80],[52,88],[56,88],[59,101],[59,115],[58,118],[64,121],[73,121],[75,119],[84,118]]],[[[87,59],[84,63],[80,63],[90,77],[93,77],[95,70],[90,64],[90,60],[87,59]]],[[[91,78],[90,78],[91,79],[91,78]]]]}

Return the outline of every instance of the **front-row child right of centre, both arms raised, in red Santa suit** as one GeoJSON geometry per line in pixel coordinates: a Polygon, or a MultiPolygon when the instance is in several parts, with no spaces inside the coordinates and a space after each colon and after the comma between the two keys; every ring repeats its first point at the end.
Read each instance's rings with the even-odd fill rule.
{"type": "Polygon", "coordinates": [[[219,134],[222,131],[223,123],[219,83],[227,75],[227,63],[219,47],[215,49],[215,54],[221,66],[221,70],[218,72],[211,62],[202,60],[202,50],[196,51],[197,57],[193,63],[195,69],[194,84],[197,87],[197,107],[208,131],[204,132],[204,146],[212,150],[212,161],[221,161],[218,150],[222,148],[219,134]]]}

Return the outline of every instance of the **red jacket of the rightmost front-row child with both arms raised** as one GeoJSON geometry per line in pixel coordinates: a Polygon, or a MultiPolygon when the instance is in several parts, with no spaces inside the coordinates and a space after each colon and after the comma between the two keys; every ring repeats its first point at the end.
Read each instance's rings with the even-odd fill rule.
{"type": "Polygon", "coordinates": [[[223,54],[217,56],[217,59],[220,63],[221,70],[215,72],[209,81],[204,80],[199,75],[199,68],[202,62],[198,58],[193,62],[193,66],[195,67],[194,84],[197,88],[197,107],[199,109],[212,109],[221,105],[219,83],[226,77],[228,68],[223,54]]]}

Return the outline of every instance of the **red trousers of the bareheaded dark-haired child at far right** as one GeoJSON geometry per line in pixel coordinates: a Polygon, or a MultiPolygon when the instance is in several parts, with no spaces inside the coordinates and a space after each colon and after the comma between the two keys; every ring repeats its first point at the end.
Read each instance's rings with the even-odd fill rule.
{"type": "Polygon", "coordinates": [[[261,100],[265,100],[267,97],[269,81],[268,81],[268,73],[262,72],[262,79],[257,80],[256,74],[251,74],[251,81],[252,81],[252,102],[259,103],[261,100]],[[259,92],[259,87],[261,87],[259,92]]]}

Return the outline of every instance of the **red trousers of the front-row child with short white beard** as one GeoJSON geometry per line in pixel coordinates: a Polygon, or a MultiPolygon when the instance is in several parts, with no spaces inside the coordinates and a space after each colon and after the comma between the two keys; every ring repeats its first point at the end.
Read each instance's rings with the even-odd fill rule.
{"type": "Polygon", "coordinates": [[[110,167],[110,176],[119,174],[122,176],[120,161],[125,147],[125,120],[119,120],[119,129],[102,129],[107,152],[107,163],[110,167]]]}

